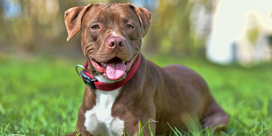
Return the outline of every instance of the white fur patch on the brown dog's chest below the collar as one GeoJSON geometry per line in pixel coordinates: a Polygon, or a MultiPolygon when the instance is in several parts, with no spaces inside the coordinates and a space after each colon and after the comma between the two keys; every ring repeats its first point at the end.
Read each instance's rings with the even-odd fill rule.
{"type": "MultiPolygon", "coordinates": [[[[97,78],[98,79],[98,78],[97,78]]],[[[84,126],[91,135],[121,136],[124,121],[111,116],[111,109],[122,87],[113,91],[96,90],[96,105],[85,113],[84,126]]]]}

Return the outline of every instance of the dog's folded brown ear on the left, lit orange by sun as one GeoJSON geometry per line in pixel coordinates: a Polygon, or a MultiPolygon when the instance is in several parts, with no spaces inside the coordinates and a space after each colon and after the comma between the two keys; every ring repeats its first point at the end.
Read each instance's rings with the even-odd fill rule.
{"type": "Polygon", "coordinates": [[[66,30],[68,32],[67,41],[79,32],[83,15],[92,5],[93,4],[89,4],[87,6],[72,7],[64,12],[64,21],[66,30]]]}

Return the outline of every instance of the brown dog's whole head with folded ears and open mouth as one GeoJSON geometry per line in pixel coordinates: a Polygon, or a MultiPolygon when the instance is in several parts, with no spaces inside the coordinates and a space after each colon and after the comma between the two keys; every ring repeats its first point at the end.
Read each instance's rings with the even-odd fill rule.
{"type": "Polygon", "coordinates": [[[151,13],[131,4],[89,4],[65,12],[67,41],[82,30],[81,46],[91,74],[120,81],[137,61],[151,13]]]}

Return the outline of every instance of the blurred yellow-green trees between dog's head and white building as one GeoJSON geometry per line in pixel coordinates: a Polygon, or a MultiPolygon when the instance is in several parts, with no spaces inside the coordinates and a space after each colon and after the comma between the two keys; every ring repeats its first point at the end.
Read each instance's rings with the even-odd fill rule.
{"type": "MultiPolygon", "coordinates": [[[[206,39],[210,33],[210,22],[205,23],[202,28],[208,28],[202,32],[202,36],[196,35],[197,18],[192,18],[197,14],[201,5],[206,15],[212,15],[214,0],[160,0],[159,7],[152,15],[152,23],[145,42],[148,51],[165,54],[198,54],[199,50],[205,48],[206,39]]],[[[205,21],[209,21],[208,18],[205,21]]],[[[201,27],[199,27],[201,28],[201,27]]],[[[199,30],[198,30],[199,31],[199,30]]],[[[200,30],[202,31],[202,30],[200,30]]],[[[204,55],[204,51],[201,51],[204,55]]]]}

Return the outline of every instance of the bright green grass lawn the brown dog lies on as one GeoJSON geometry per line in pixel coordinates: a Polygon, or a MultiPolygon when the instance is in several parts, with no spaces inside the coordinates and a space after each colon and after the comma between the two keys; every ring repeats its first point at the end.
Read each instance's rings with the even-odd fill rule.
{"type": "MultiPolygon", "coordinates": [[[[184,135],[272,135],[271,64],[243,68],[202,58],[148,58],[159,66],[177,63],[197,71],[230,116],[225,132],[193,129],[184,135]]],[[[85,59],[0,57],[0,136],[73,132],[85,87],[74,70],[76,64],[85,64],[85,59]]]]}

